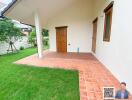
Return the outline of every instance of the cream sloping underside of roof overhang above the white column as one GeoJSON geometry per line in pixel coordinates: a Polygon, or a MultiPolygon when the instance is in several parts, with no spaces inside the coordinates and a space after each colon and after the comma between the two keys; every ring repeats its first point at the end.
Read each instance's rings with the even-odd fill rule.
{"type": "Polygon", "coordinates": [[[23,23],[34,25],[34,13],[39,12],[41,24],[71,6],[77,0],[14,0],[3,15],[23,23]]]}

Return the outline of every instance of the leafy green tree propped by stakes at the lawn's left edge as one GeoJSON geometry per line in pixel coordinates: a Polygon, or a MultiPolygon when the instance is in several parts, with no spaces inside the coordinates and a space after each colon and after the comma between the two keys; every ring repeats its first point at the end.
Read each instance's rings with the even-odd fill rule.
{"type": "Polygon", "coordinates": [[[16,49],[14,42],[20,39],[21,36],[21,30],[17,28],[11,20],[7,18],[0,20],[0,41],[9,43],[7,51],[11,48],[11,51],[13,52],[13,47],[16,49]]]}

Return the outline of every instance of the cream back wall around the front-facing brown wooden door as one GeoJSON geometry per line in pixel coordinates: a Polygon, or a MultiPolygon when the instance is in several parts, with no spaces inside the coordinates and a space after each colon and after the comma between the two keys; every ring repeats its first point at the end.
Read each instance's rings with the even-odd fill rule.
{"type": "Polygon", "coordinates": [[[92,44],[92,1],[78,0],[68,9],[58,13],[54,18],[49,19],[50,50],[56,51],[56,30],[55,27],[68,26],[67,29],[67,51],[91,52],[92,44]],[[70,46],[68,44],[71,44],[70,46]]]}

